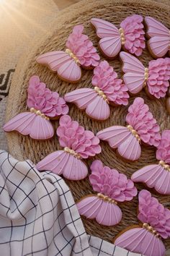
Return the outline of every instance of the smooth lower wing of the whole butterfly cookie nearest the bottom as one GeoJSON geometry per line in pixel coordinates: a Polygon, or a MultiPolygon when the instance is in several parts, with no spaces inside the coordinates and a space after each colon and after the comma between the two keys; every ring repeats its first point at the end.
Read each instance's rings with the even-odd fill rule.
{"type": "Polygon", "coordinates": [[[122,211],[114,203],[104,202],[95,195],[89,195],[76,203],[80,215],[96,219],[104,226],[115,226],[121,221],[122,211]]]}

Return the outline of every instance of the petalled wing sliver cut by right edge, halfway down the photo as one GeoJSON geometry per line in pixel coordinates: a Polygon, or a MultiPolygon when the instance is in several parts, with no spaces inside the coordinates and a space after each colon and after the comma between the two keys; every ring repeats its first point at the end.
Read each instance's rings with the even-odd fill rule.
{"type": "Polygon", "coordinates": [[[156,150],[156,158],[170,164],[170,130],[165,129],[156,150]]]}

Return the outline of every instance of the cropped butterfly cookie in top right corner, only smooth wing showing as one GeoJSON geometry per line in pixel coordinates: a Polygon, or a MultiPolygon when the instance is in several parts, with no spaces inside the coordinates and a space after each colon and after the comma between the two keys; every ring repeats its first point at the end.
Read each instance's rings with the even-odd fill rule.
{"type": "Polygon", "coordinates": [[[148,49],[155,58],[163,57],[166,53],[170,55],[170,30],[153,17],[145,18],[148,27],[147,35],[148,49]]]}

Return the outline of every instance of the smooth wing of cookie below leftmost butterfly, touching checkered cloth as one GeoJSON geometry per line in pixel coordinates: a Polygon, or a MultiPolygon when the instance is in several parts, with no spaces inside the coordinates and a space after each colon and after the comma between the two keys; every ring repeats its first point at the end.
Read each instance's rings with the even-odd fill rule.
{"type": "Polygon", "coordinates": [[[84,179],[88,174],[84,162],[63,150],[50,153],[36,167],[39,171],[49,170],[58,175],[63,174],[66,179],[71,180],[84,179]]]}

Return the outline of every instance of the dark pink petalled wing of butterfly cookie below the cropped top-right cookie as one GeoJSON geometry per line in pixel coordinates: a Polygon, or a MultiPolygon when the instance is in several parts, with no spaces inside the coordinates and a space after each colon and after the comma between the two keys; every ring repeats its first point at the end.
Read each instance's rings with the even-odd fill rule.
{"type": "Polygon", "coordinates": [[[148,66],[148,91],[156,98],[163,98],[169,88],[170,58],[156,59],[148,66]]]}

